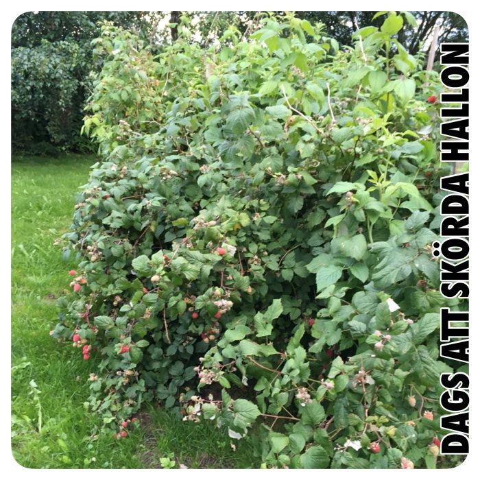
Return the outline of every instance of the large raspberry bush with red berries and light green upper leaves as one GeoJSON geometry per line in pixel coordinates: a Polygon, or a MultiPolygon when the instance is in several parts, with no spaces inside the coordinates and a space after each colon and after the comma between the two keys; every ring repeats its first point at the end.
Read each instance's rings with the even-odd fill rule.
{"type": "Polygon", "coordinates": [[[102,160],[53,336],[124,435],[145,402],[253,435],[267,468],[435,468],[440,84],[385,15],[344,50],[291,16],[154,57],[104,25],[84,130],[102,160]],[[427,175],[428,173],[428,175],[427,175]],[[83,350],[82,350],[83,349],[83,350]]]}

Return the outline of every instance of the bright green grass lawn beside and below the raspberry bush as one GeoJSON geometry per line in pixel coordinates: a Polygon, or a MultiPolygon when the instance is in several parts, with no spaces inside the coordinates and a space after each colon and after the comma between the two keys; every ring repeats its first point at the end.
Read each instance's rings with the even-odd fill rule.
{"type": "Polygon", "coordinates": [[[191,424],[149,406],[139,427],[115,440],[84,409],[88,374],[77,349],[49,337],[56,298],[69,269],[55,239],[67,232],[75,195],[93,156],[14,158],[12,162],[12,453],[27,468],[160,468],[160,458],[188,468],[252,468],[243,442],[211,424],[191,424]]]}

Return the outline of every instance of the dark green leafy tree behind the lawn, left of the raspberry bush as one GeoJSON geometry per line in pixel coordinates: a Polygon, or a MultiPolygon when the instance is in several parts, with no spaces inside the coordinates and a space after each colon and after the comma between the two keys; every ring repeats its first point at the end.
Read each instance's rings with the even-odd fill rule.
{"type": "Polygon", "coordinates": [[[12,27],[12,149],[36,154],[85,151],[80,136],[91,87],[91,41],[99,22],[156,41],[162,12],[27,12],[12,27]]]}

